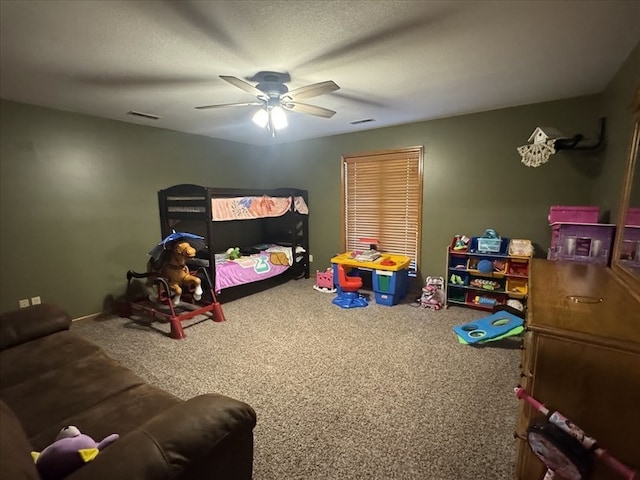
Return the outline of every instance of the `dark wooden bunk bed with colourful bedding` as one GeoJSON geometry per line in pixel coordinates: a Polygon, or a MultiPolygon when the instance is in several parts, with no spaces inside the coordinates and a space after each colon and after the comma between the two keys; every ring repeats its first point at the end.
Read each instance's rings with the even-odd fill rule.
{"type": "Polygon", "coordinates": [[[216,294],[263,280],[309,278],[308,192],[182,184],[158,192],[162,238],[172,231],[205,239],[193,267],[205,267],[216,294]],[[228,260],[239,247],[242,257],[228,260]]]}

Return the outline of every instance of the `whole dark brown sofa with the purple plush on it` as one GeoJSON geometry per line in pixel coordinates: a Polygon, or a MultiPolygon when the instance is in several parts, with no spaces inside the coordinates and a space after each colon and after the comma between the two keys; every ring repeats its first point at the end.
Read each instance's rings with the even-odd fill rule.
{"type": "Polygon", "coordinates": [[[70,325],[51,304],[0,315],[0,478],[38,479],[30,452],[67,425],[97,441],[120,435],[69,480],[251,478],[249,405],[216,394],[181,400],[70,325]]]}

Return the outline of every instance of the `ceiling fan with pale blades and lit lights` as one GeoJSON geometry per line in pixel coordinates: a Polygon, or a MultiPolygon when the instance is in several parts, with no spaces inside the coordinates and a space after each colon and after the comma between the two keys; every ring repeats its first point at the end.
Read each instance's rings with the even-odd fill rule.
{"type": "Polygon", "coordinates": [[[250,81],[258,82],[256,86],[240,80],[237,77],[228,75],[220,75],[220,78],[229,82],[245,92],[249,92],[256,96],[256,101],[244,103],[223,103],[219,105],[201,105],[195,107],[197,110],[206,110],[209,108],[221,107],[262,107],[256,112],[253,121],[261,127],[266,127],[275,137],[277,129],[286,127],[287,119],[284,110],[293,112],[307,113],[316,117],[331,118],[336,112],[328,108],[318,107],[317,105],[309,105],[301,103],[298,100],[304,98],[317,97],[325,93],[335,92],[340,87],[328,80],[326,82],[312,83],[304,87],[289,90],[285,83],[291,81],[288,73],[280,72],[258,72],[250,81]]]}

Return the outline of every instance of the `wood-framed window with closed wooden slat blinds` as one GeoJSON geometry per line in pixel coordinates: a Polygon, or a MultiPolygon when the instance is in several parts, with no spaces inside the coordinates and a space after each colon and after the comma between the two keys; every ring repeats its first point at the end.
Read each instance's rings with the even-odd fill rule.
{"type": "Polygon", "coordinates": [[[420,264],[422,230],[422,147],[342,157],[344,251],[368,248],[362,238],[377,238],[380,249],[420,264]]]}

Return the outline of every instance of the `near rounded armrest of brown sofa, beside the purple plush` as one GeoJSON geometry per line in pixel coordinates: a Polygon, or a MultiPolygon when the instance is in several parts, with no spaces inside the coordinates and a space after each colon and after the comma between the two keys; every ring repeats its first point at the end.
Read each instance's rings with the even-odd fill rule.
{"type": "Polygon", "coordinates": [[[246,403],[200,395],[121,437],[67,480],[250,480],[255,424],[246,403]]]}

